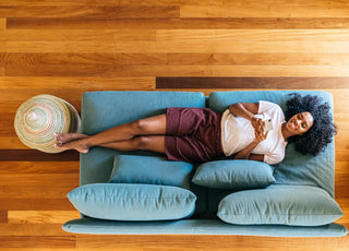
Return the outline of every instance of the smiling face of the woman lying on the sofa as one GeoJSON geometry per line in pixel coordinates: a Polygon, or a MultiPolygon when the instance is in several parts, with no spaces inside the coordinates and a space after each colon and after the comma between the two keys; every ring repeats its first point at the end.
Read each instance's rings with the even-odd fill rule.
{"type": "Polygon", "coordinates": [[[287,130],[293,135],[302,135],[313,125],[314,118],[309,111],[294,115],[286,124],[287,130]]]}

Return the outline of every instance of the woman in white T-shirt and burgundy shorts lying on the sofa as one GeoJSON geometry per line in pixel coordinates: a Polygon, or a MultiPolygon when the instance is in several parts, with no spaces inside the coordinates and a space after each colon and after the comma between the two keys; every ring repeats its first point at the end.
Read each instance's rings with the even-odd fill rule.
{"type": "Polygon", "coordinates": [[[166,154],[170,160],[209,162],[234,155],[276,164],[284,159],[287,140],[303,154],[318,154],[332,141],[336,127],[329,106],[317,96],[293,94],[281,108],[269,101],[239,103],[224,113],[208,108],[167,108],[165,115],[121,124],[95,135],[56,133],[56,147],[87,153],[92,146],[119,151],[145,150],[166,154]],[[272,121],[264,131],[265,120],[272,121]]]}

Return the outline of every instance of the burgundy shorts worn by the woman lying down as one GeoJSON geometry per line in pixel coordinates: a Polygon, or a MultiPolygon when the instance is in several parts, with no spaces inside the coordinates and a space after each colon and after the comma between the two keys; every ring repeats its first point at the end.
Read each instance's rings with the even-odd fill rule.
{"type": "Polygon", "coordinates": [[[167,108],[165,151],[168,159],[205,163],[224,156],[221,113],[209,108],[167,108]]]}

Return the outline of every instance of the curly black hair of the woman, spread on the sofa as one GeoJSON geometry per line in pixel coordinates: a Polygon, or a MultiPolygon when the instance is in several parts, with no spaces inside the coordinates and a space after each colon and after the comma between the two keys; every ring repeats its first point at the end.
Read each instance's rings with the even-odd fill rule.
{"type": "Polygon", "coordinates": [[[302,154],[311,153],[316,156],[325,150],[325,146],[333,141],[337,133],[337,127],[333,122],[328,103],[322,103],[318,96],[306,95],[302,97],[297,93],[290,94],[293,97],[286,103],[287,121],[294,115],[309,111],[314,118],[313,125],[303,135],[296,135],[288,139],[296,145],[296,150],[302,154]]]}

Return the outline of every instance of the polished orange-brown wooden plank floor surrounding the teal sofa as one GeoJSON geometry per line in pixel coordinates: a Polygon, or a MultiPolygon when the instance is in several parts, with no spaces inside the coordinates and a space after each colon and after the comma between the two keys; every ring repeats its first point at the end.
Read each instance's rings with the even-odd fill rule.
{"type": "Polygon", "coordinates": [[[77,155],[32,151],[13,129],[21,103],[44,93],[80,110],[88,91],[327,89],[339,128],[338,223],[348,228],[348,77],[345,0],[1,0],[0,251],[348,250],[349,237],[64,232],[62,223],[79,217],[65,198],[79,186],[77,155]],[[169,76],[236,79],[156,82],[169,76]]]}

